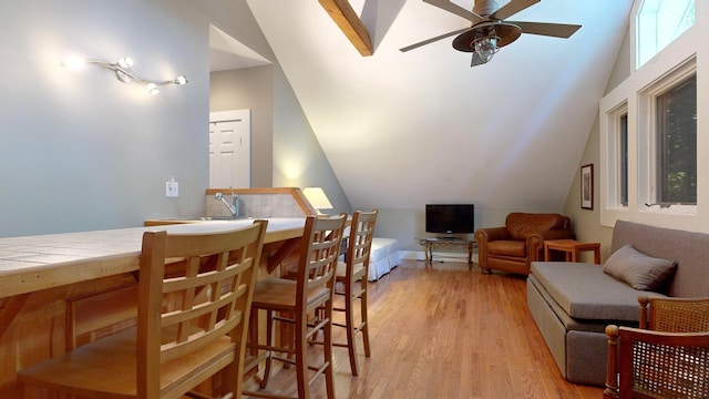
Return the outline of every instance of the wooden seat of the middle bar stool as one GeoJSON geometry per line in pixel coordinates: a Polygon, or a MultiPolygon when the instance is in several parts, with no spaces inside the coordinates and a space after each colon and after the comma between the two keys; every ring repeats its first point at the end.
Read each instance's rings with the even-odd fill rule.
{"type": "MultiPolygon", "coordinates": [[[[276,311],[294,311],[296,308],[296,282],[268,277],[256,283],[253,307],[276,311]]],[[[312,310],[329,298],[327,287],[316,287],[308,291],[308,310],[312,310]]]]}

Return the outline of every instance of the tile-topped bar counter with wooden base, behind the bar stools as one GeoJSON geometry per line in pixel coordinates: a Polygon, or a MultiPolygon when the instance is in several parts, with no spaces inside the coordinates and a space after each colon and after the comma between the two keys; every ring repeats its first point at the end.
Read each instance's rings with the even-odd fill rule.
{"type": "MultiPolygon", "coordinates": [[[[172,223],[0,238],[0,398],[20,397],[18,369],[71,349],[75,324],[123,311],[114,293],[137,286],[143,233],[218,232],[253,219],[172,223]]],[[[305,218],[268,219],[259,274],[291,256],[304,226],[305,218]]]]}

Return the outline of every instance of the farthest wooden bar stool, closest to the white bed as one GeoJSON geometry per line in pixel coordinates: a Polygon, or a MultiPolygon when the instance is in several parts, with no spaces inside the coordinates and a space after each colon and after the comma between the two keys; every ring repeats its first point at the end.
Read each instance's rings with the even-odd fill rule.
{"type": "Polygon", "coordinates": [[[345,313],[345,324],[332,323],[333,326],[343,327],[347,330],[347,342],[333,342],[333,346],[348,348],[350,357],[350,370],[352,376],[358,376],[357,341],[358,332],[362,334],[364,356],[370,357],[369,325],[367,320],[367,278],[369,276],[369,255],[374,235],[378,211],[360,212],[352,214],[350,237],[347,246],[345,262],[338,263],[336,283],[341,284],[343,290],[336,285],[335,294],[345,298],[345,307],[336,307],[332,310],[345,313]],[[354,303],[359,299],[359,323],[354,319],[354,303]]]}

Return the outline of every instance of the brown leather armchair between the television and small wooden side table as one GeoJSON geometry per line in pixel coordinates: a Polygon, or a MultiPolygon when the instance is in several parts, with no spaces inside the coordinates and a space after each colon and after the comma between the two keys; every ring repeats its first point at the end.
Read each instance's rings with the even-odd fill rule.
{"type": "Polygon", "coordinates": [[[528,275],[530,264],[544,258],[545,241],[574,238],[571,224],[559,214],[511,213],[504,227],[475,232],[480,267],[528,275]]]}

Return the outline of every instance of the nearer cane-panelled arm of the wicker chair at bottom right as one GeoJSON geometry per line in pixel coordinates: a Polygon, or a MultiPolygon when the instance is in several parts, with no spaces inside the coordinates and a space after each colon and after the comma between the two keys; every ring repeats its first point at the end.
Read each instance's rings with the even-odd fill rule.
{"type": "Polygon", "coordinates": [[[608,369],[604,398],[617,398],[619,392],[636,387],[646,393],[709,397],[709,386],[705,383],[709,379],[709,332],[608,326],[606,334],[608,369]]]}

